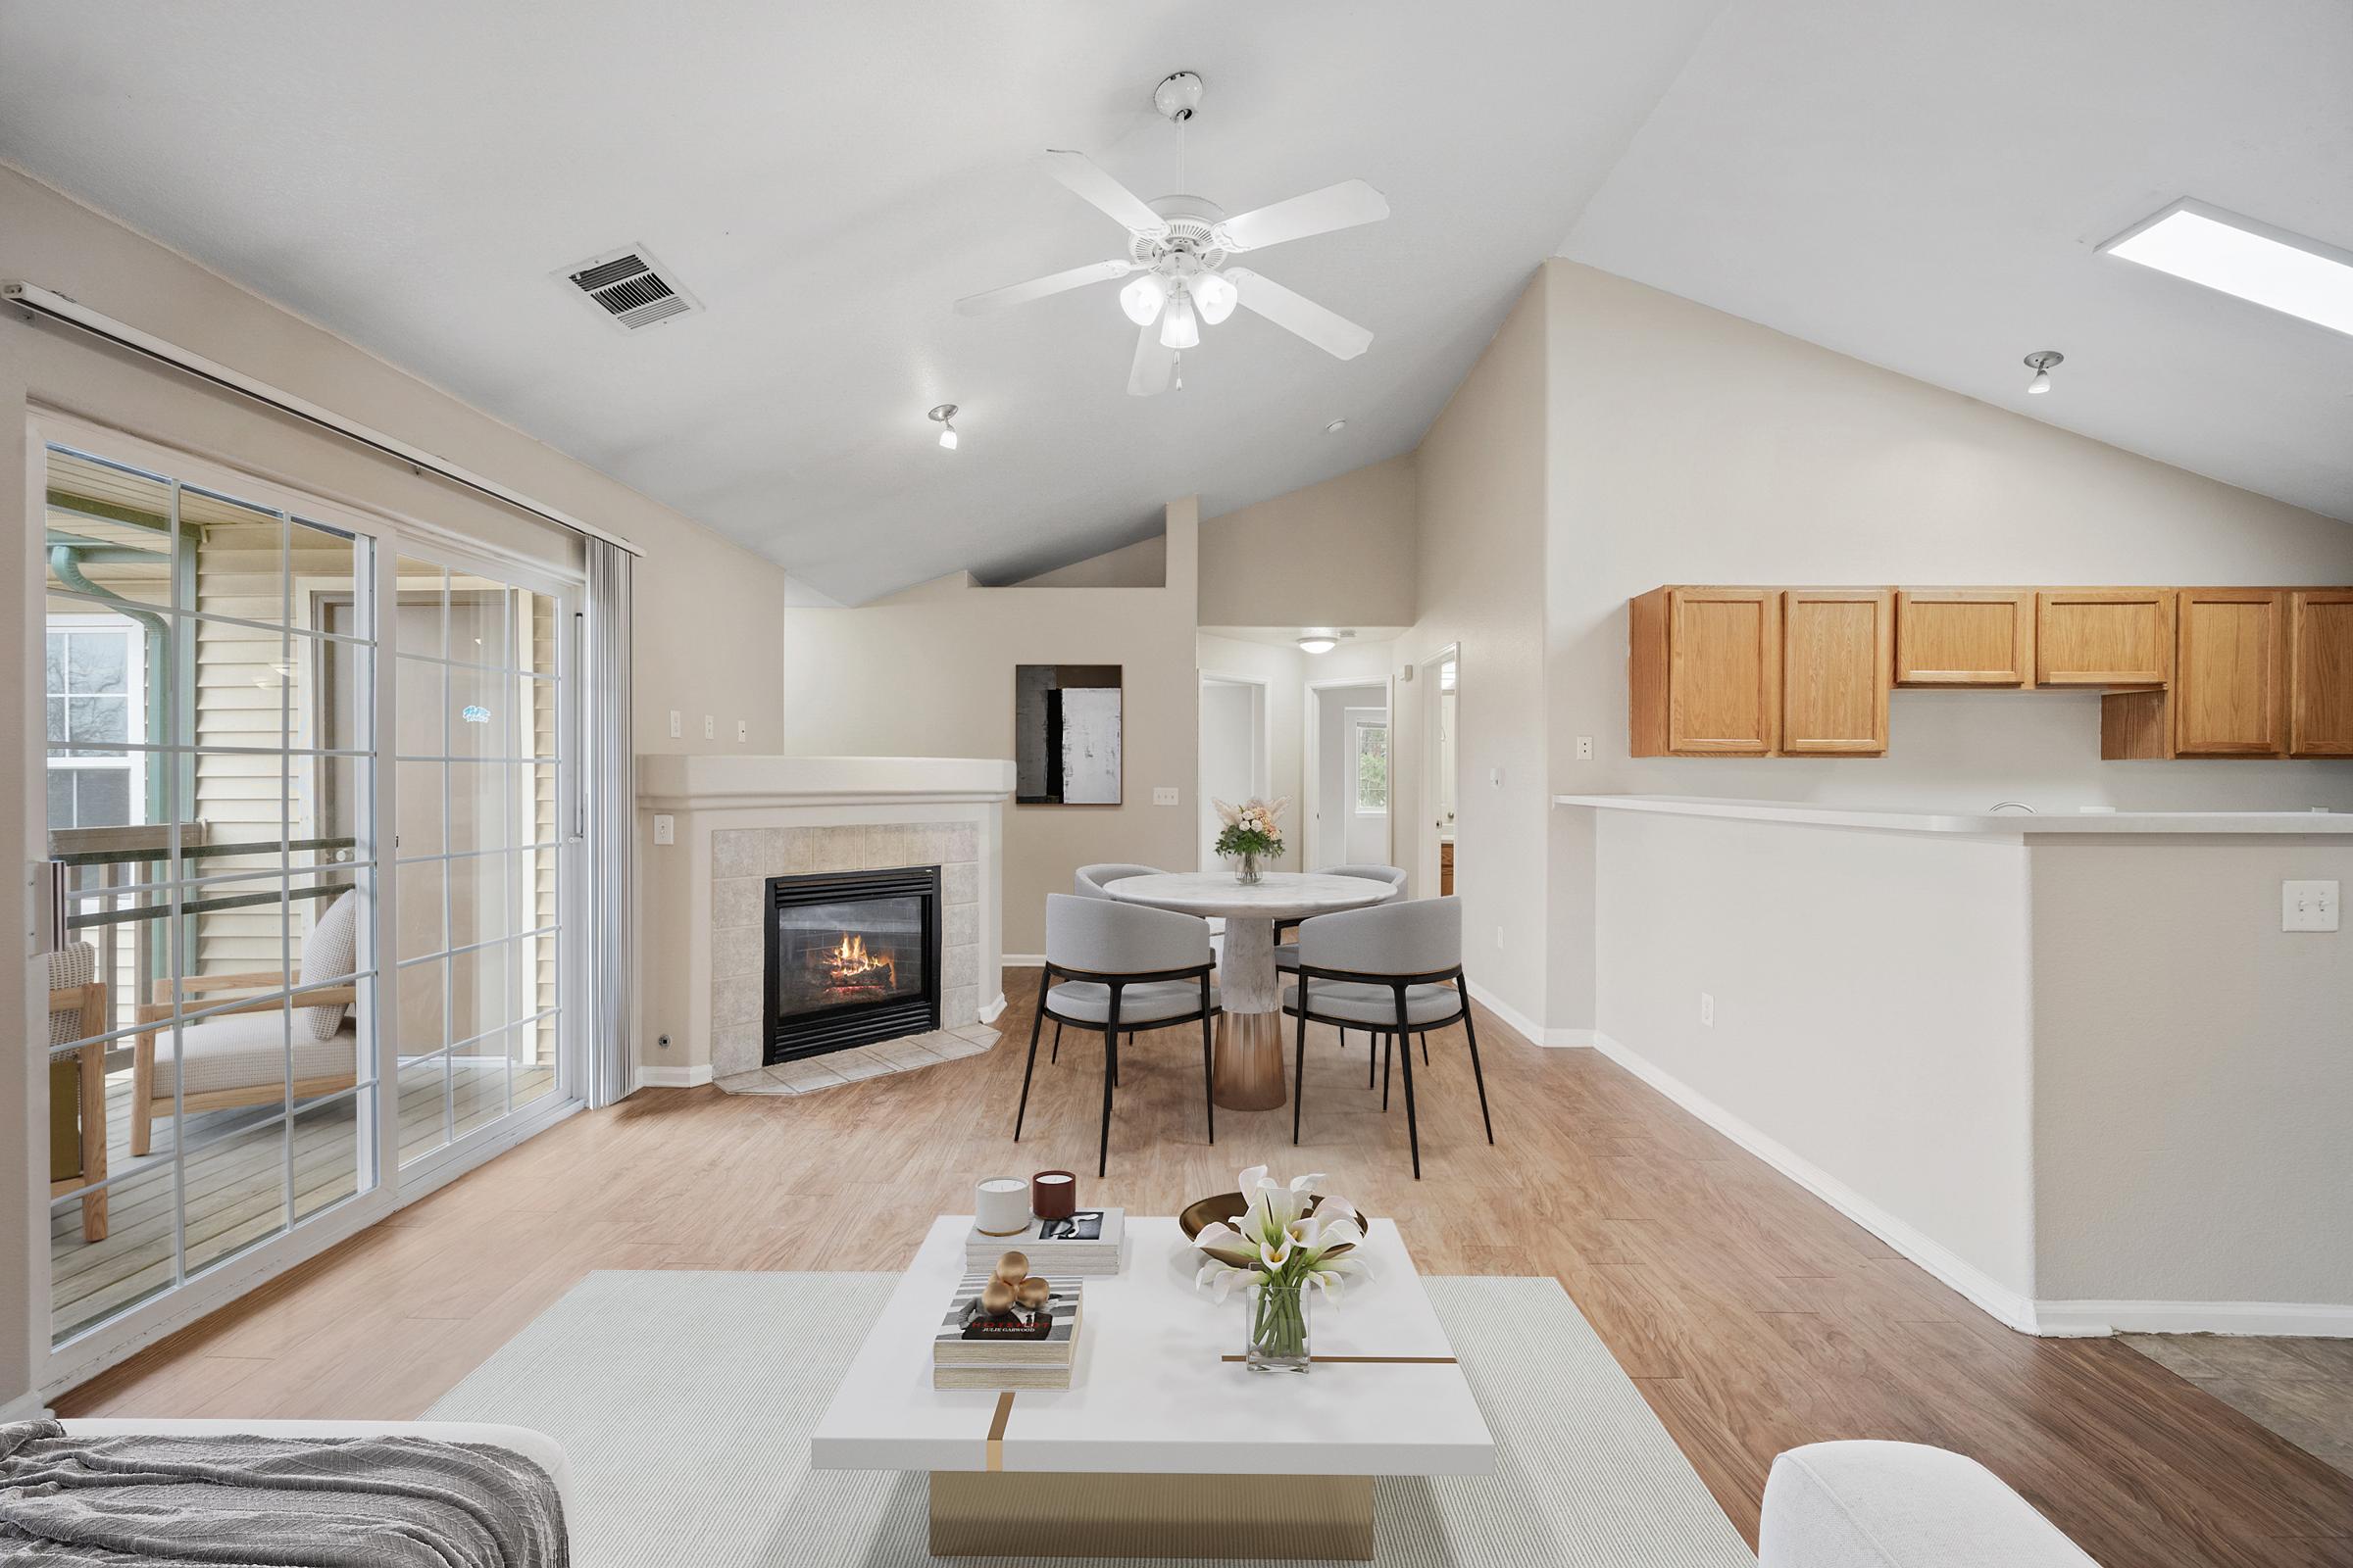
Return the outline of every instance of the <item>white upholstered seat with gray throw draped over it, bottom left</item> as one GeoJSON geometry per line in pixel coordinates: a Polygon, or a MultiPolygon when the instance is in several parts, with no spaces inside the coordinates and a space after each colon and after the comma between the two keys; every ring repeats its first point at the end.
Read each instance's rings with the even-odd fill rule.
{"type": "Polygon", "coordinates": [[[520,1453],[416,1436],[66,1436],[0,1422],[0,1568],[567,1568],[520,1453]]]}

